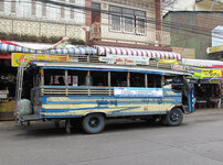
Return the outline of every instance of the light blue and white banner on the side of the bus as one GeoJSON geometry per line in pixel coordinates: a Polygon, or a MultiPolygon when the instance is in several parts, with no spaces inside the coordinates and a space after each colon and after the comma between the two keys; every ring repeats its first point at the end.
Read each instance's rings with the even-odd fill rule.
{"type": "Polygon", "coordinates": [[[162,88],[115,87],[115,97],[163,97],[162,88]]]}

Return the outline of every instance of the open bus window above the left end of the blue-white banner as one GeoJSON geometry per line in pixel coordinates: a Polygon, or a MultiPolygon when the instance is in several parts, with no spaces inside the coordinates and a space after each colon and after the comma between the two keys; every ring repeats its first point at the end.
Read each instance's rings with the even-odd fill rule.
{"type": "Polygon", "coordinates": [[[110,73],[112,87],[127,87],[127,74],[128,73],[110,73]]]}

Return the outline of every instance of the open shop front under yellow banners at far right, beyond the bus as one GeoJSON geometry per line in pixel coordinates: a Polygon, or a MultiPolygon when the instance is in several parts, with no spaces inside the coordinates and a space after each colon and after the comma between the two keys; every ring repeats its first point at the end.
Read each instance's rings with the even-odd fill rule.
{"type": "Polygon", "coordinates": [[[221,108],[221,69],[194,66],[187,66],[185,69],[193,73],[190,81],[194,85],[195,108],[221,108]]]}

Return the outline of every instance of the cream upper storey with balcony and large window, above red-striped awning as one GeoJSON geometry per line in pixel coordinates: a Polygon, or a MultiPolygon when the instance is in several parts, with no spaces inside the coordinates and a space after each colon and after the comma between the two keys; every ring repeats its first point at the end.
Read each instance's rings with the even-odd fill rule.
{"type": "Polygon", "coordinates": [[[93,0],[91,45],[172,51],[161,0],[93,0]]]}

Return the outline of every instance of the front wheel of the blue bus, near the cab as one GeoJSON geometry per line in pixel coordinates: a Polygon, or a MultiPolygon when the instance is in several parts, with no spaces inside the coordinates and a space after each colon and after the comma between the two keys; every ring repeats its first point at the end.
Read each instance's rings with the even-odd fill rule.
{"type": "Polygon", "coordinates": [[[178,127],[181,124],[183,120],[183,112],[180,108],[173,108],[167,116],[166,116],[166,124],[169,127],[178,127]]]}

